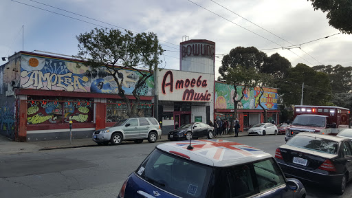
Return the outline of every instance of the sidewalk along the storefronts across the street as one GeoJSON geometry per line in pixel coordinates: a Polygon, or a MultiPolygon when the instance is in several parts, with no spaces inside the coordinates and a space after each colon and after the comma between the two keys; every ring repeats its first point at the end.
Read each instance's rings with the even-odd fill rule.
{"type": "MultiPolygon", "coordinates": [[[[248,133],[239,132],[239,136],[247,136],[248,133]]],[[[223,139],[226,137],[234,137],[234,135],[217,135],[213,139],[223,139]]],[[[206,139],[200,138],[200,139],[206,139]]],[[[168,135],[162,135],[157,142],[167,142],[168,135]]],[[[144,142],[148,142],[144,140],[144,142]]],[[[122,143],[123,144],[123,143],[122,143]]],[[[91,138],[84,139],[72,139],[72,144],[69,144],[69,140],[47,140],[38,142],[14,142],[4,135],[0,135],[0,154],[11,154],[11,153],[25,153],[25,152],[35,152],[43,150],[61,149],[61,148],[78,148],[87,146],[98,146],[96,142],[91,140],[91,138]]]]}

